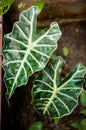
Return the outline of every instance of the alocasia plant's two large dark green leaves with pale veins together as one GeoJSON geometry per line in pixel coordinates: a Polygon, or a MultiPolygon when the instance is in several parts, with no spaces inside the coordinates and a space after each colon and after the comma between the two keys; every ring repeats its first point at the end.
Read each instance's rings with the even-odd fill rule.
{"type": "Polygon", "coordinates": [[[61,118],[70,114],[77,105],[82,90],[85,67],[78,64],[61,80],[63,59],[55,58],[48,66],[52,53],[57,49],[61,31],[56,22],[37,33],[37,15],[41,7],[32,6],[20,14],[11,33],[4,36],[3,69],[6,99],[15,89],[27,83],[28,78],[40,71],[32,88],[32,103],[45,116],[61,118]]]}

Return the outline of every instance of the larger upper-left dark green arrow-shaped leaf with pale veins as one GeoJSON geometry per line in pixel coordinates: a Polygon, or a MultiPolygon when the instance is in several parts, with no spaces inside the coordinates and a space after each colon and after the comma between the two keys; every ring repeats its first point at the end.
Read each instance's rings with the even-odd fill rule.
{"type": "Polygon", "coordinates": [[[4,36],[2,52],[7,100],[17,87],[27,83],[29,76],[45,67],[57,48],[61,36],[58,24],[54,22],[49,29],[37,34],[38,12],[38,7],[33,6],[21,13],[12,32],[4,36]]]}

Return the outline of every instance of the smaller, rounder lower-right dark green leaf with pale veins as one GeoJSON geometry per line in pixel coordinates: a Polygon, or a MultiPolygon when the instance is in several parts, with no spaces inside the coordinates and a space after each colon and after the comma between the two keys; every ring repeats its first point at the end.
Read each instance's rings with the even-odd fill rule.
{"type": "Polygon", "coordinates": [[[77,105],[82,91],[85,67],[78,64],[62,81],[63,59],[57,57],[39,72],[32,89],[32,103],[42,115],[61,118],[70,114],[77,105]]]}

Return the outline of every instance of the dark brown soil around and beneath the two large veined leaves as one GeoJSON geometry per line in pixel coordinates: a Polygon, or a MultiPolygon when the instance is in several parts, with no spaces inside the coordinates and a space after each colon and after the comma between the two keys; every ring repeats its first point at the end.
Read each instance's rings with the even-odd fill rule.
{"type": "MultiPolygon", "coordinates": [[[[86,66],[86,23],[64,24],[60,25],[60,29],[63,35],[58,42],[59,46],[55,54],[61,55],[66,61],[63,69],[63,74],[66,76],[77,63],[83,63],[86,66]],[[63,56],[63,47],[67,47],[69,50],[67,57],[63,56]]],[[[28,130],[28,127],[36,121],[43,122],[43,130],[74,130],[74,128],[70,127],[70,123],[72,121],[78,122],[84,118],[80,114],[80,110],[83,109],[80,102],[71,115],[63,117],[60,119],[59,124],[55,125],[53,119],[42,117],[33,109],[31,104],[33,79],[34,76],[29,79],[26,86],[16,89],[11,99],[11,108],[9,108],[11,110],[11,118],[9,119],[9,110],[6,110],[5,115],[7,119],[5,119],[5,122],[8,122],[9,119],[9,124],[15,130],[28,130]]],[[[85,84],[84,88],[86,88],[85,84]]],[[[11,130],[13,130],[12,128],[11,130]]]]}

